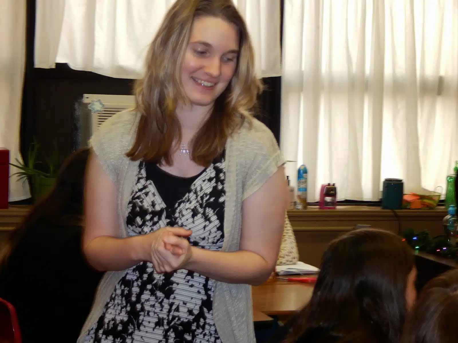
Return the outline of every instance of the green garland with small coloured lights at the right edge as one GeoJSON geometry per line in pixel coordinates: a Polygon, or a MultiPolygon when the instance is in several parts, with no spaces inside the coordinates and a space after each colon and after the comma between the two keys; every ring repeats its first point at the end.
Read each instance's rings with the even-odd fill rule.
{"type": "Polygon", "coordinates": [[[417,251],[453,258],[458,262],[458,248],[452,246],[444,235],[431,238],[427,230],[415,233],[413,229],[407,229],[402,236],[417,251]]]}

